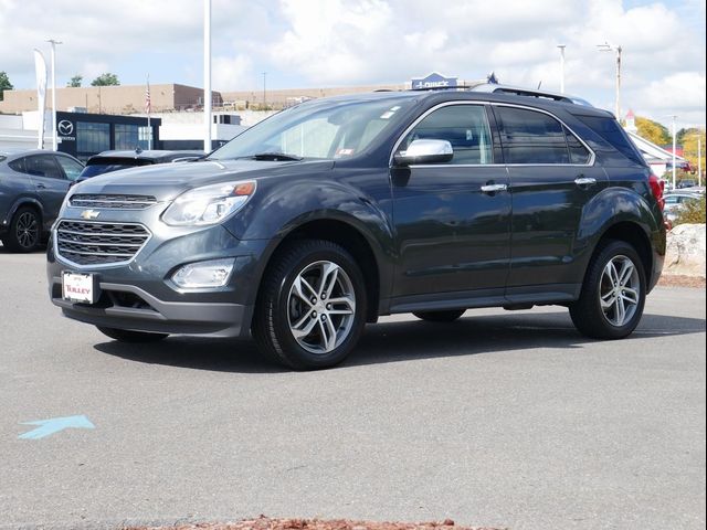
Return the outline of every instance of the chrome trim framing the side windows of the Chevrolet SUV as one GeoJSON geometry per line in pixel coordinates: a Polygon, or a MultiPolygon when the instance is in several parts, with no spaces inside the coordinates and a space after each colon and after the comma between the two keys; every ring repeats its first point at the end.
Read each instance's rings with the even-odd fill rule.
{"type": "MultiPolygon", "coordinates": [[[[592,150],[592,148],[590,148],[587,142],[577,134],[574,132],[574,130],[567,125],[564,121],[562,121],[562,119],[558,118],[556,115],[553,115],[552,113],[541,109],[541,108],[536,108],[536,107],[531,107],[528,105],[518,105],[518,104],[514,104],[514,103],[499,103],[499,102],[484,102],[484,100],[455,100],[455,102],[444,102],[444,103],[440,103],[437,105],[435,105],[432,108],[429,108],[428,110],[425,110],[421,116],[419,116],[403,132],[402,135],[400,135],[398,137],[398,140],[395,141],[395,144],[393,145],[393,149],[390,152],[390,158],[388,160],[388,168],[389,169],[393,169],[395,166],[393,165],[393,159],[395,156],[395,151],[398,150],[398,148],[400,147],[400,144],[402,144],[402,140],[408,136],[408,134],[410,134],[410,131],[412,129],[414,129],[418,124],[420,121],[422,121],[424,118],[426,118],[430,114],[432,114],[433,112],[437,110],[439,108],[442,107],[449,107],[451,105],[481,105],[481,106],[495,106],[495,107],[513,107],[513,108],[521,108],[525,110],[534,110],[536,113],[540,113],[540,114],[545,114],[547,116],[550,116],[551,118],[558,120],[564,128],[567,128],[567,130],[569,130],[574,138],[577,138],[579,140],[579,142],[584,147],[584,149],[587,149],[590,153],[589,157],[589,161],[587,163],[548,163],[548,162],[544,162],[544,163],[460,163],[460,165],[453,165],[453,163],[425,163],[425,165],[410,165],[409,168],[498,168],[498,167],[508,167],[508,168],[528,168],[528,167],[552,167],[552,168],[557,168],[557,167],[562,167],[562,168],[592,168],[594,167],[594,163],[597,162],[597,155],[594,153],[594,151],[592,150]]],[[[492,141],[493,141],[493,127],[490,124],[488,124],[489,128],[492,128],[492,141]]],[[[500,129],[496,128],[496,131],[500,135],[500,129]]],[[[495,149],[496,146],[492,147],[492,150],[495,149]]],[[[503,149],[503,146],[500,146],[500,148],[503,149]]],[[[569,148],[568,148],[569,150],[569,148]]]]}

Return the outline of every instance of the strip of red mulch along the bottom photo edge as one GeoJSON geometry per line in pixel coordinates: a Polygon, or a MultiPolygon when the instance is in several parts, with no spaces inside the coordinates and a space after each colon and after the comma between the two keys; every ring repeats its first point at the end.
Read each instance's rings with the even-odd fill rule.
{"type": "Polygon", "coordinates": [[[462,527],[451,519],[443,522],[371,522],[348,519],[271,519],[261,516],[238,522],[199,522],[176,527],[127,527],[124,530],[500,530],[490,527],[462,527]]]}

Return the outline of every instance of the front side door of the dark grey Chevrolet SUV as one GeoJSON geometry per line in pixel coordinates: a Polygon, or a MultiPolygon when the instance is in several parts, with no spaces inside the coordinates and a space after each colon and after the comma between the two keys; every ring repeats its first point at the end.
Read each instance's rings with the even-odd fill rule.
{"type": "Polygon", "coordinates": [[[503,296],[510,257],[510,195],[504,189],[509,178],[494,160],[487,108],[440,106],[397,150],[415,139],[447,140],[454,157],[391,170],[399,250],[393,296],[503,296]]]}

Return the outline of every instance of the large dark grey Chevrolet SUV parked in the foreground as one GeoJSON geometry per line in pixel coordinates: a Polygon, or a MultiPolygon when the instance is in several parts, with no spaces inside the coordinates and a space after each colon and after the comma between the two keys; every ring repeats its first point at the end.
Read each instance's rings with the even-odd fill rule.
{"type": "Polygon", "coordinates": [[[563,96],[315,99],[205,159],[76,186],[50,296],[116,340],[252,333],[296,369],[400,312],[560,305],[619,339],[661,275],[661,195],[613,115],[563,96]]]}

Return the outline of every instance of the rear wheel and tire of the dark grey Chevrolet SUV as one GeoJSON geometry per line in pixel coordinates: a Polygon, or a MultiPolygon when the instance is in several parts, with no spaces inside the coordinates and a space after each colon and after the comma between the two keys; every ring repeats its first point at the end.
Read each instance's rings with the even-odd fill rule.
{"type": "Polygon", "coordinates": [[[570,305],[570,316],[587,337],[623,339],[641,321],[645,296],[641,257],[629,243],[611,240],[595,251],[580,297],[570,305]]]}

